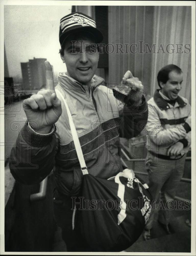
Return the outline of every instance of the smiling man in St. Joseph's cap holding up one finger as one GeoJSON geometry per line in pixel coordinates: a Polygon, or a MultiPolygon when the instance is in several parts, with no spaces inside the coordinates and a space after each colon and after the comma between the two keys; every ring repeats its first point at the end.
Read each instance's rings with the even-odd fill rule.
{"type": "Polygon", "coordinates": [[[85,14],[75,12],[61,19],[60,55],[67,72],[59,74],[59,83],[54,89],[51,66],[45,62],[47,90],[23,102],[27,123],[21,130],[24,139],[18,143],[30,156],[30,161],[21,161],[22,154],[16,147],[11,152],[16,161],[10,162],[10,170],[21,183],[39,183],[53,169],[54,217],[62,228],[68,251],[88,251],[88,248],[72,226],[71,197],[79,193],[82,172],[67,111],[57,90],[70,109],[88,172],[100,178],[108,179],[123,170],[118,152],[119,137],[137,136],[140,133],[137,123],[146,123],[148,116],[147,104],[140,92],[141,82],[130,71],[122,80],[136,87],[134,95],[138,103],[132,109],[135,96],[130,94],[122,104],[112,90],[103,85],[104,80],[95,75],[99,53],[94,45],[102,38],[95,21],[85,14]],[[30,140],[25,136],[29,133],[30,140]],[[32,169],[32,164],[38,165],[38,169],[32,169]]]}

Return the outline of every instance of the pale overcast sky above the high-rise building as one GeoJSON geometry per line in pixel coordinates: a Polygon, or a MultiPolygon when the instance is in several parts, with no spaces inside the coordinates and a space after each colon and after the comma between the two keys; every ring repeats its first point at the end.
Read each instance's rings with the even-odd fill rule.
{"type": "Polygon", "coordinates": [[[66,71],[59,49],[60,19],[71,6],[5,5],[4,42],[10,77],[22,77],[20,62],[46,58],[54,73],[66,71]]]}

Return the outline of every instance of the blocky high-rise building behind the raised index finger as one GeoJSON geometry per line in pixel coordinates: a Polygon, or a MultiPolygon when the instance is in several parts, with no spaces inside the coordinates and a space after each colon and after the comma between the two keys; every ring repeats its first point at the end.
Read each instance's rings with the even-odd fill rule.
{"type": "Polygon", "coordinates": [[[44,58],[33,58],[29,62],[21,62],[24,90],[40,90],[46,85],[44,58]]]}

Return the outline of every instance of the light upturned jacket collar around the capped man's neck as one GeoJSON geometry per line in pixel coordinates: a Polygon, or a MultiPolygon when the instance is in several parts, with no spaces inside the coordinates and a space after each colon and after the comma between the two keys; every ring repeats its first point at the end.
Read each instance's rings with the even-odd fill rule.
{"type": "MultiPolygon", "coordinates": [[[[99,86],[100,84],[102,84],[104,82],[104,79],[94,75],[93,78],[91,79],[91,90],[95,89],[97,86],[99,86]]],[[[85,91],[84,87],[87,86],[85,84],[79,83],[78,81],[76,81],[75,79],[73,79],[72,77],[67,76],[67,74],[65,72],[61,72],[59,73],[59,84],[62,87],[66,87],[66,89],[69,90],[83,90],[85,91]]]]}

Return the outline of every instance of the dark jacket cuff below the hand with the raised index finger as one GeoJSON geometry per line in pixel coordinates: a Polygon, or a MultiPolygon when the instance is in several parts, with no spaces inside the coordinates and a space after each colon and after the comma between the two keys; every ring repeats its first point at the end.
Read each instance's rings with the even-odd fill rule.
{"type": "Polygon", "coordinates": [[[22,137],[32,147],[44,147],[48,145],[53,137],[53,134],[56,132],[56,126],[54,125],[54,131],[49,133],[48,135],[35,133],[28,127],[28,122],[24,125],[23,129],[21,130],[22,137]]]}

